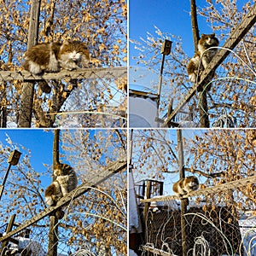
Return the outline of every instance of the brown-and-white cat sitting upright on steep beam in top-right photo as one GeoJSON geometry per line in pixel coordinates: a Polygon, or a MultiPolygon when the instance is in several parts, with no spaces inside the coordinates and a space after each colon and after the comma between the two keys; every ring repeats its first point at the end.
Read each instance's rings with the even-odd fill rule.
{"type": "Polygon", "coordinates": [[[218,38],[215,33],[201,34],[201,39],[197,44],[198,51],[194,57],[189,61],[187,67],[189,73],[189,80],[193,83],[196,82],[198,72],[201,73],[207,65],[212,61],[213,56],[217,53],[218,49],[209,49],[210,47],[218,46],[218,38]],[[207,50],[208,49],[208,50],[207,50]]]}

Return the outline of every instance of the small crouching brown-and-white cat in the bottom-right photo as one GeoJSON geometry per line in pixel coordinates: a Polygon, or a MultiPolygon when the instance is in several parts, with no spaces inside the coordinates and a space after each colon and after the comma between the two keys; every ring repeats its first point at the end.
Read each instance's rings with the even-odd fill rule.
{"type": "Polygon", "coordinates": [[[199,188],[199,181],[195,176],[184,177],[173,184],[173,192],[177,196],[188,195],[199,188]]]}

